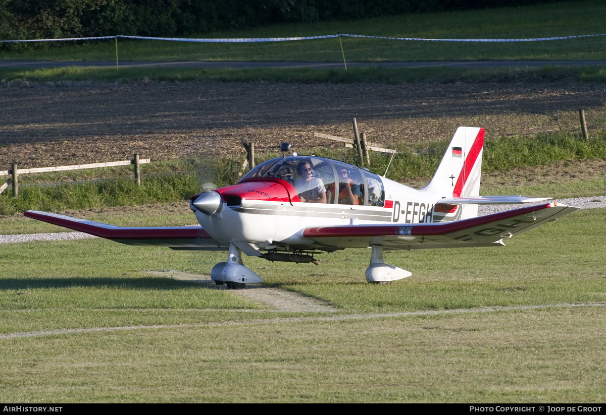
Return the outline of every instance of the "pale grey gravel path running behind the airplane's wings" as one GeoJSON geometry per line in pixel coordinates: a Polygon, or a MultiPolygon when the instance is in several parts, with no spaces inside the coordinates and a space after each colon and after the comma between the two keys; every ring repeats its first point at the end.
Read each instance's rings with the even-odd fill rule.
{"type": "MultiPolygon", "coordinates": [[[[576,206],[581,209],[606,208],[606,195],[592,197],[577,197],[570,199],[554,200],[558,203],[567,204],[568,206],[576,206]]],[[[541,204],[547,202],[539,202],[541,204]]],[[[532,204],[524,204],[531,206],[532,204]]],[[[480,206],[478,209],[479,215],[490,215],[496,212],[508,211],[510,209],[521,208],[520,204],[488,204],[480,206]]],[[[55,234],[23,234],[23,235],[0,235],[0,244],[2,243],[17,243],[17,242],[32,242],[32,241],[67,241],[96,238],[93,235],[84,234],[84,232],[57,232],[55,234]]]]}

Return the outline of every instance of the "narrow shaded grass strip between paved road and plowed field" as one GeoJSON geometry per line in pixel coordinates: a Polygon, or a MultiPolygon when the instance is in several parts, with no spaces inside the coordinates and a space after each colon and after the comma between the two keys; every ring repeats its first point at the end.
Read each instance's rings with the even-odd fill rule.
{"type": "Polygon", "coordinates": [[[295,83],[452,83],[452,82],[605,82],[606,70],[599,66],[541,68],[122,68],[64,67],[47,69],[0,68],[0,82],[8,87],[49,85],[68,87],[74,82],[295,82],[295,83]]]}

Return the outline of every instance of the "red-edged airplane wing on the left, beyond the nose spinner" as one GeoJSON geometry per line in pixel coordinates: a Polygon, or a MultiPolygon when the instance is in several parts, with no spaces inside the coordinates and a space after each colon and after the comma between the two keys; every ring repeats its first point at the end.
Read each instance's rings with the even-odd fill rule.
{"type": "Polygon", "coordinates": [[[200,226],[122,227],[47,212],[27,211],[24,215],[127,245],[165,246],[179,250],[225,250],[227,248],[211,238],[200,226]]]}

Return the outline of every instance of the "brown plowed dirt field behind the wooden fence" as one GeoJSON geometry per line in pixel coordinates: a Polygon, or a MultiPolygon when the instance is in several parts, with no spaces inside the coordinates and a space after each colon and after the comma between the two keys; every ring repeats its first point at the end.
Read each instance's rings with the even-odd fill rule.
{"type": "MultiPolygon", "coordinates": [[[[525,83],[381,85],[295,83],[61,83],[0,86],[0,169],[143,158],[239,155],[283,141],[299,153],[351,137],[351,117],[380,145],[452,136],[578,131],[578,109],[604,118],[604,87],[525,83]]],[[[590,130],[591,131],[591,130],[590,130]]]]}

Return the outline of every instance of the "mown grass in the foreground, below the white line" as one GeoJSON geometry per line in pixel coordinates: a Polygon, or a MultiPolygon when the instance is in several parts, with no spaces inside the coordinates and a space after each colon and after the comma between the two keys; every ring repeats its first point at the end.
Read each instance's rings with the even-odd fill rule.
{"type": "Polygon", "coordinates": [[[7,339],[2,396],[57,404],[601,402],[603,319],[603,307],[587,307],[7,339]]]}

